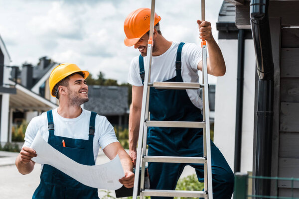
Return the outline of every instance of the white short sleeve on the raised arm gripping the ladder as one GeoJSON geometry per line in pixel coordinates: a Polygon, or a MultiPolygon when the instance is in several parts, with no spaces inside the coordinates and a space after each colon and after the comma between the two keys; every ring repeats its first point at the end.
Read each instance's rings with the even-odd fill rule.
{"type": "Polygon", "coordinates": [[[197,71],[197,65],[202,59],[200,47],[195,43],[188,43],[186,45],[186,56],[191,68],[197,71]]]}

